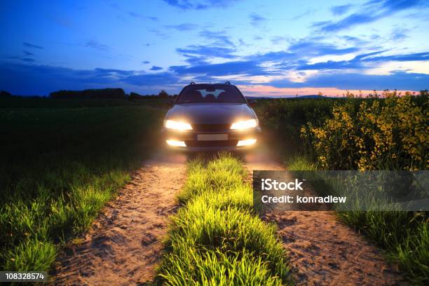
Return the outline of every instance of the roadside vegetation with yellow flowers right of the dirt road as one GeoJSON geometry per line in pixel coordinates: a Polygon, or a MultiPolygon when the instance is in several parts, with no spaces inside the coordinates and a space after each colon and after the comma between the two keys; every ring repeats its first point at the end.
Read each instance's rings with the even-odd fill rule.
{"type": "MultiPolygon", "coordinates": [[[[386,90],[369,98],[267,100],[256,110],[290,170],[428,170],[428,104],[427,90],[386,90]]],[[[339,218],[383,247],[411,282],[429,282],[428,212],[339,218]]]]}

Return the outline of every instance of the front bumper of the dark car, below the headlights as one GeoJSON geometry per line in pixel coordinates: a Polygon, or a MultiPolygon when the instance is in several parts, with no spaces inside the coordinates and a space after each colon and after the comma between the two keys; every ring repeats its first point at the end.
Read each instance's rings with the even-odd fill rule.
{"type": "Polygon", "coordinates": [[[257,145],[261,128],[253,128],[252,130],[222,130],[217,132],[200,132],[196,130],[175,131],[163,128],[162,134],[165,144],[170,149],[183,151],[236,151],[252,149],[257,145]],[[198,135],[227,135],[226,140],[198,140],[198,135]],[[167,143],[167,140],[180,142],[182,146],[172,146],[167,143]],[[245,140],[256,140],[253,144],[238,146],[239,142],[249,142],[245,140]]]}

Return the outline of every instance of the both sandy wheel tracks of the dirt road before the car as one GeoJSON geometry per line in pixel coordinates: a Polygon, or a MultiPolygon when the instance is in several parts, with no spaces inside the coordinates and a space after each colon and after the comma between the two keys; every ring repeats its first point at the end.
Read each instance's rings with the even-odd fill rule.
{"type": "MultiPolygon", "coordinates": [[[[186,156],[158,155],[105,207],[78,245],[58,259],[55,284],[141,285],[154,278],[166,222],[185,179],[186,156]]],[[[243,157],[250,170],[285,170],[268,151],[243,157]]],[[[400,275],[334,212],[270,212],[298,285],[402,285],[400,275]]]]}

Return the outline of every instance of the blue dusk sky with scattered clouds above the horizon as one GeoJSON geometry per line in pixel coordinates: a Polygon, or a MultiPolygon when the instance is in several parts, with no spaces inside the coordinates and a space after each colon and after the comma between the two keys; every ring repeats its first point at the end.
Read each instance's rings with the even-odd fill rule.
{"type": "Polygon", "coordinates": [[[429,1],[0,1],[0,89],[429,89],[429,1]]]}

